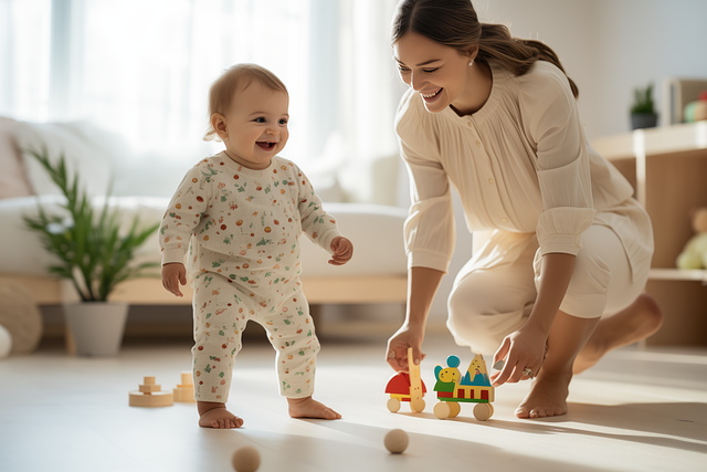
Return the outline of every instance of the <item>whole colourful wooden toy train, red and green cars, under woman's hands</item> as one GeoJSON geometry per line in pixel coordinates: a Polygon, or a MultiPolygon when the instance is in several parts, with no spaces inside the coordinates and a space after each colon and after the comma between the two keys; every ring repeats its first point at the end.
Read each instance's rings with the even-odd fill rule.
{"type": "MultiPolygon", "coordinates": [[[[409,352],[408,358],[412,358],[409,352]]],[[[439,419],[455,418],[462,410],[461,403],[476,403],[474,417],[479,421],[486,421],[494,415],[494,387],[488,378],[486,361],[477,354],[464,374],[458,369],[461,360],[457,356],[446,359],[447,367],[436,366],[434,377],[436,384],[434,391],[437,400],[434,406],[434,416],[439,419]]],[[[420,366],[410,363],[410,375],[399,373],[390,378],[386,392],[390,394],[388,409],[397,412],[401,401],[410,401],[410,408],[414,412],[424,410],[422,396],[425,392],[424,384],[420,378],[420,366]]]]}

